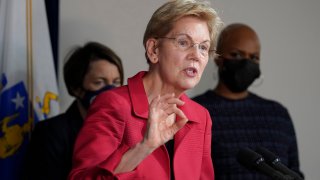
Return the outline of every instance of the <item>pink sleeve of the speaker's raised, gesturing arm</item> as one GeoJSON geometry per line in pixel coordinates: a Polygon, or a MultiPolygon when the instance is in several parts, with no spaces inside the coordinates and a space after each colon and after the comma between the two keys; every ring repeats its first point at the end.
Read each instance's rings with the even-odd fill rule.
{"type": "Polygon", "coordinates": [[[113,93],[96,98],[77,137],[69,179],[117,179],[113,170],[129,149],[121,145],[129,108],[124,102],[113,93]]]}

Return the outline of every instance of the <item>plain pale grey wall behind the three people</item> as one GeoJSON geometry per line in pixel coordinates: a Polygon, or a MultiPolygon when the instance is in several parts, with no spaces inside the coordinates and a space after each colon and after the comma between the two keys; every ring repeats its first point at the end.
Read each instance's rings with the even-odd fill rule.
{"type": "MultiPolygon", "coordinates": [[[[125,77],[146,70],[142,37],[153,11],[165,0],[60,1],[60,60],[76,44],[99,41],[124,62],[125,77]]],[[[294,121],[306,179],[320,178],[320,1],[212,0],[225,24],[252,26],[262,43],[263,84],[252,91],[285,105],[294,121]]],[[[61,63],[62,64],[62,63],[61,63]]],[[[213,88],[209,63],[190,96],[213,88]]],[[[61,74],[61,68],[60,68],[61,74]]],[[[71,102],[60,78],[61,105],[71,102]]]]}

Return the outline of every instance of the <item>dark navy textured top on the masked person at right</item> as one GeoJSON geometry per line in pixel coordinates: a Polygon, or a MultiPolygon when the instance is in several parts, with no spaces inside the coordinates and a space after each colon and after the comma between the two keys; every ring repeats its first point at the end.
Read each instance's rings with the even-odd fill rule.
{"type": "Polygon", "coordinates": [[[206,107],[212,119],[211,154],[215,179],[270,179],[247,170],[236,160],[242,147],[262,146],[281,158],[290,169],[300,173],[298,148],[292,120],[280,103],[249,93],[231,100],[213,91],[193,98],[206,107]]]}

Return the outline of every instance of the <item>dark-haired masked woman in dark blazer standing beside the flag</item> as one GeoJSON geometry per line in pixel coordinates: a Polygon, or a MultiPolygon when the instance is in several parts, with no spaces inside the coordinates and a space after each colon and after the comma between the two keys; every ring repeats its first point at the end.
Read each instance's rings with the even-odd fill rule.
{"type": "Polygon", "coordinates": [[[98,94],[123,85],[124,76],[121,59],[97,42],[71,51],[63,75],[75,101],[65,113],[36,124],[22,179],[67,179],[73,146],[91,102],[98,94]]]}

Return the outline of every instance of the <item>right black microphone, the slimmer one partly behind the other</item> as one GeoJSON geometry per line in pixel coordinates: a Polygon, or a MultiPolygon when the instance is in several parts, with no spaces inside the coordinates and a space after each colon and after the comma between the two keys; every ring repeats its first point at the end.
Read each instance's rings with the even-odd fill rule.
{"type": "Polygon", "coordinates": [[[256,152],[261,154],[265,158],[266,162],[270,166],[275,168],[276,170],[278,170],[284,174],[287,174],[296,180],[303,180],[303,178],[301,176],[299,176],[298,173],[292,171],[287,166],[282,164],[280,158],[278,156],[276,156],[275,154],[273,154],[268,149],[266,149],[264,147],[257,147],[256,152]]]}

